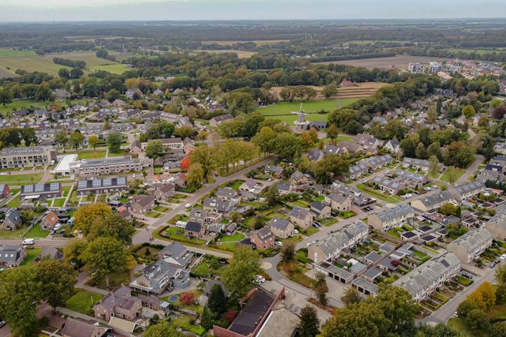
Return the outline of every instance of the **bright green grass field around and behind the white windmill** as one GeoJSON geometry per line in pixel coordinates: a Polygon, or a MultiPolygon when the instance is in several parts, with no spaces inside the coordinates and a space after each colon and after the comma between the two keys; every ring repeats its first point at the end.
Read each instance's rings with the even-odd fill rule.
{"type": "Polygon", "coordinates": [[[304,107],[304,112],[308,115],[308,121],[326,121],[328,113],[317,114],[317,111],[325,110],[328,112],[337,110],[339,107],[346,107],[355,103],[358,98],[342,98],[337,100],[311,100],[306,102],[283,102],[267,107],[258,107],[257,112],[260,112],[267,118],[278,118],[287,123],[293,123],[297,119],[296,114],[292,111],[299,111],[300,105],[304,107]]]}

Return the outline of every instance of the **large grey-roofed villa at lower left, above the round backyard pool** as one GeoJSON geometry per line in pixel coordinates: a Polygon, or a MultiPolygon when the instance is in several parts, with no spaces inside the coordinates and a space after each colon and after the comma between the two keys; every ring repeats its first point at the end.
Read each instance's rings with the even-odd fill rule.
{"type": "Polygon", "coordinates": [[[129,286],[139,293],[160,295],[166,290],[185,289],[190,284],[190,270],[166,262],[163,258],[141,270],[141,276],[129,286]]]}

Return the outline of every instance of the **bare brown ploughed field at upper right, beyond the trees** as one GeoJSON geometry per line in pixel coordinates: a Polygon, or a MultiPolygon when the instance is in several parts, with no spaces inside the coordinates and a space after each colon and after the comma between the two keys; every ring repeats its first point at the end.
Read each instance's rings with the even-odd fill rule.
{"type": "Polygon", "coordinates": [[[330,63],[339,63],[342,65],[351,65],[353,67],[365,67],[368,69],[380,68],[390,69],[395,68],[407,68],[409,62],[429,63],[432,61],[443,62],[447,61],[448,58],[430,58],[427,56],[411,56],[411,55],[397,55],[389,58],[365,58],[361,60],[342,60],[342,61],[330,61],[330,62],[317,62],[318,64],[328,65],[330,63]]]}

